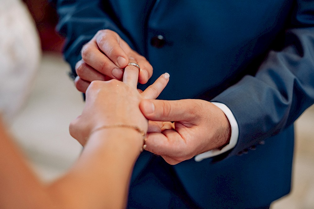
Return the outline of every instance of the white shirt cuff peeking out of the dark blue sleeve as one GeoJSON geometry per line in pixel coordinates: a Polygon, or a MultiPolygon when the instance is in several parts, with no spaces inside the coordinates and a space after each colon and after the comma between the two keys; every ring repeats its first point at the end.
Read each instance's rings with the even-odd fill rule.
{"type": "Polygon", "coordinates": [[[227,152],[228,150],[234,148],[236,146],[237,141],[238,141],[239,126],[238,126],[238,123],[236,122],[236,118],[232,114],[232,112],[229,109],[229,107],[227,107],[225,104],[219,103],[219,102],[212,102],[212,104],[214,104],[217,107],[219,107],[222,110],[222,112],[225,113],[225,115],[227,116],[227,118],[229,120],[229,123],[231,125],[230,142],[229,142],[229,144],[227,144],[222,149],[212,149],[212,150],[209,150],[207,152],[203,152],[201,154],[196,155],[194,159],[197,162],[199,162],[199,161],[201,161],[203,159],[211,158],[211,157],[217,156],[219,154],[222,154],[224,152],[227,152]]]}

